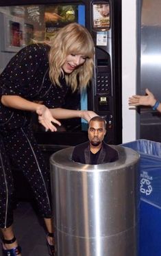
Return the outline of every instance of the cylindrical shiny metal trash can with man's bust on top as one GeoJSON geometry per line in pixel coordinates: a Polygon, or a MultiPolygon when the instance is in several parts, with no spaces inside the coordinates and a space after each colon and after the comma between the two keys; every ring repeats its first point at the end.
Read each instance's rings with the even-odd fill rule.
{"type": "Polygon", "coordinates": [[[56,256],[136,256],[139,154],[121,146],[119,160],[71,161],[73,147],[50,158],[56,256]]]}

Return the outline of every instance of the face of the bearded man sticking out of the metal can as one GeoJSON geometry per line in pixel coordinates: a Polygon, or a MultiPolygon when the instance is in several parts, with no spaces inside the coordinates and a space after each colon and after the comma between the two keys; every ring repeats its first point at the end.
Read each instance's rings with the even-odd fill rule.
{"type": "Polygon", "coordinates": [[[88,139],[92,146],[99,146],[106,135],[103,121],[90,121],[88,128],[88,139]]]}

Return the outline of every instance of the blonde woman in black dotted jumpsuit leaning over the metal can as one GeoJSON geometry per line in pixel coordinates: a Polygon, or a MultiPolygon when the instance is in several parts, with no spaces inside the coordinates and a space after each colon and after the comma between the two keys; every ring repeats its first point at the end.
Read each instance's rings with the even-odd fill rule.
{"type": "Polygon", "coordinates": [[[0,75],[0,227],[3,255],[21,255],[12,229],[13,181],[9,163],[23,172],[31,185],[40,215],[47,226],[47,245],[54,255],[49,170],[34,139],[29,112],[55,132],[58,119],[97,115],[88,110],[61,108],[69,88],[86,88],[92,78],[94,45],[85,27],[71,23],[60,29],[50,43],[21,49],[0,75]],[[36,102],[42,102],[38,104],[36,102]]]}

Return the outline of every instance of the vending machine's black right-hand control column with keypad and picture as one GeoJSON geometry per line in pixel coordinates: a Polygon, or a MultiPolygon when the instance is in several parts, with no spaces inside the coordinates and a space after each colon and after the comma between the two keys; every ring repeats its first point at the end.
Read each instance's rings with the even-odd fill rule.
{"type": "Polygon", "coordinates": [[[114,144],[121,143],[120,15],[121,6],[116,6],[116,1],[90,1],[88,29],[95,42],[90,108],[106,119],[106,141],[114,144]]]}

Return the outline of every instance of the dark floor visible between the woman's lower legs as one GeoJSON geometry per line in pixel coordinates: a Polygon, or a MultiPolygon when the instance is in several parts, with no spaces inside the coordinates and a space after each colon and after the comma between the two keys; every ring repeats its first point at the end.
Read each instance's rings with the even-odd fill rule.
{"type": "MultiPolygon", "coordinates": [[[[18,202],[14,210],[14,231],[23,256],[49,255],[43,222],[30,202],[18,202]]],[[[1,250],[0,256],[3,256],[1,250]]]]}

